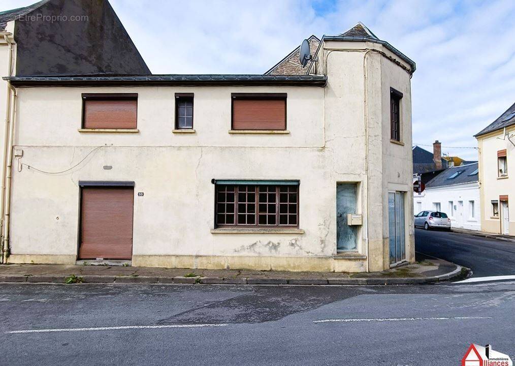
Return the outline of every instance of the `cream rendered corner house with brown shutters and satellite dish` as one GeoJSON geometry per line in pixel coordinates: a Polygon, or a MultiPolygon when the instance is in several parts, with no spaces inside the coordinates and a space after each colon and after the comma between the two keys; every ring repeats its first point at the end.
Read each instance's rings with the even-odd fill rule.
{"type": "Polygon", "coordinates": [[[362,24],[313,57],[294,76],[6,77],[8,262],[413,262],[415,63],[362,24]]]}

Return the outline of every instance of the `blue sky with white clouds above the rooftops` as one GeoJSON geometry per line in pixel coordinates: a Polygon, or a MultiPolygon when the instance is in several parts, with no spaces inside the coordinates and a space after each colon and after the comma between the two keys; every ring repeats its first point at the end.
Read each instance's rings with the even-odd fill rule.
{"type": "MultiPolygon", "coordinates": [[[[0,0],[3,9],[33,1],[0,0]]],[[[413,142],[474,147],[515,102],[515,2],[111,0],[153,73],[263,73],[361,21],[417,63],[413,142]]],[[[423,146],[426,147],[426,146],[423,146]]],[[[430,151],[432,147],[426,147],[430,151]]],[[[442,148],[475,159],[475,149],[442,148]]]]}

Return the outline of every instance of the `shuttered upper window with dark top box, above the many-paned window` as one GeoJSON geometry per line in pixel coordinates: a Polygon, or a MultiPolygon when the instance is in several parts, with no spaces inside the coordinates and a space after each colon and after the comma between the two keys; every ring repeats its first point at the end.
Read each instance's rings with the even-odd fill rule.
{"type": "Polygon", "coordinates": [[[286,130],[286,93],[231,93],[231,129],[286,130]]]}

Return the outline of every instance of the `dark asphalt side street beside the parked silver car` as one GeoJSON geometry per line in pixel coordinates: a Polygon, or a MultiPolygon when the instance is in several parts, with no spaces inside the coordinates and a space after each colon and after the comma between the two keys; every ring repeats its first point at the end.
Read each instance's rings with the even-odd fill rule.
{"type": "Polygon", "coordinates": [[[515,275],[515,243],[456,232],[415,229],[417,252],[465,265],[474,277],[515,275]]]}

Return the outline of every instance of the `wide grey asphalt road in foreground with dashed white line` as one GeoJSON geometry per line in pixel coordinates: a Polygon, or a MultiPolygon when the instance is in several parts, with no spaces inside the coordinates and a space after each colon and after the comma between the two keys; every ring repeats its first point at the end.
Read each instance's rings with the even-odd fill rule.
{"type": "Polygon", "coordinates": [[[514,313],[515,281],[0,284],[0,364],[456,365],[471,342],[515,357],[514,313]]]}

